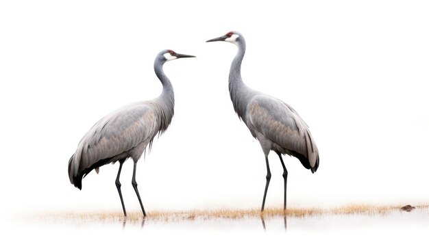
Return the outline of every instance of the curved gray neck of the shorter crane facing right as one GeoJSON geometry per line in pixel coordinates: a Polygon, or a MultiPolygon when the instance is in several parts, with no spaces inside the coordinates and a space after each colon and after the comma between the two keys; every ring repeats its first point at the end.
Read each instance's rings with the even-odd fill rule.
{"type": "Polygon", "coordinates": [[[160,120],[160,131],[163,132],[167,129],[171,123],[171,118],[174,115],[174,91],[173,85],[167,75],[165,75],[162,66],[164,65],[165,60],[161,57],[157,58],[154,64],[155,74],[160,79],[162,83],[162,92],[158,98],[154,99],[154,102],[157,103],[158,119],[160,120]]]}

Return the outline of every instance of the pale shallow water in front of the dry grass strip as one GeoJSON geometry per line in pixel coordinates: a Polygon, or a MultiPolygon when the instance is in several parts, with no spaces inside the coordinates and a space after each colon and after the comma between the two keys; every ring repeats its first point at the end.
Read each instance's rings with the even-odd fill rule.
{"type": "MultiPolygon", "coordinates": [[[[71,218],[58,216],[29,217],[18,221],[19,229],[33,229],[29,232],[43,232],[43,236],[75,239],[76,235],[136,237],[174,237],[186,233],[191,239],[219,239],[222,235],[246,236],[247,238],[272,235],[297,238],[321,237],[328,239],[361,239],[363,237],[410,237],[428,239],[429,209],[415,209],[411,212],[393,210],[387,213],[322,214],[305,217],[271,216],[260,217],[188,217],[184,219],[126,219],[114,218],[71,218]],[[21,228],[25,226],[25,228],[21,228]],[[58,232],[60,230],[60,232],[58,232]],[[48,235],[45,233],[49,232],[48,235]],[[208,233],[210,233],[208,235],[208,233]]],[[[19,230],[18,230],[19,231],[19,230]]],[[[19,232],[25,235],[25,232],[19,232]]]]}

